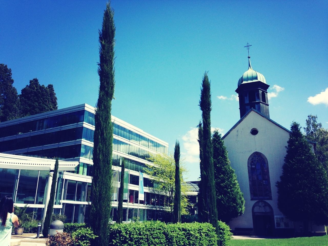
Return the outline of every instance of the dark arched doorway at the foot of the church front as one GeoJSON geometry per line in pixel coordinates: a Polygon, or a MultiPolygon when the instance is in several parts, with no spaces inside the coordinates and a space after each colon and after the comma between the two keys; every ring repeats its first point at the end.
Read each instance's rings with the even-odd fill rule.
{"type": "Polygon", "coordinates": [[[252,215],[256,236],[273,236],[275,224],[271,205],[263,200],[257,201],[253,205],[252,215]]]}

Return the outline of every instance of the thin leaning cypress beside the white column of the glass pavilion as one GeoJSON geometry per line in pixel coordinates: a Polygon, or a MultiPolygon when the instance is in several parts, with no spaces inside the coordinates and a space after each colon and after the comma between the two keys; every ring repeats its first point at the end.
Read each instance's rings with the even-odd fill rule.
{"type": "Polygon", "coordinates": [[[58,162],[58,158],[56,158],[56,162],[55,162],[55,170],[53,171],[53,177],[52,177],[52,183],[51,183],[51,190],[50,190],[50,199],[49,199],[49,203],[47,206],[47,214],[46,217],[44,219],[44,223],[43,223],[43,229],[42,229],[42,234],[45,237],[48,237],[48,230],[51,224],[51,215],[53,212],[53,203],[55,201],[55,191],[56,191],[56,184],[57,184],[57,174],[58,174],[58,166],[59,166],[59,162],[58,162]]]}

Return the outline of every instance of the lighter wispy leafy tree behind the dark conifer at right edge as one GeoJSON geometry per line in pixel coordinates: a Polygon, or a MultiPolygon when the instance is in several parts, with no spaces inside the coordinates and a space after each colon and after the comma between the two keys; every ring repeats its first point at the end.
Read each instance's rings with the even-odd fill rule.
{"type": "Polygon", "coordinates": [[[304,131],[306,138],[317,143],[316,156],[328,172],[328,129],[317,123],[317,115],[308,115],[304,131]]]}

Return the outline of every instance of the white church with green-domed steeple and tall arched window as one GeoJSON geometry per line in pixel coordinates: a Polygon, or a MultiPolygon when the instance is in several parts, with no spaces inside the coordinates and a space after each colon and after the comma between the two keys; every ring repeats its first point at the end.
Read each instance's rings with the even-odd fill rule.
{"type": "MultiPolygon", "coordinates": [[[[236,89],[240,120],[222,137],[245,199],[244,214],[228,223],[234,235],[287,236],[303,230],[302,222],[287,219],[277,206],[276,182],[290,131],[270,118],[268,88],[248,56],[248,70],[236,89]]],[[[314,151],[315,143],[309,143],[314,151]]],[[[314,223],[309,229],[319,235],[325,231],[314,223]]]]}

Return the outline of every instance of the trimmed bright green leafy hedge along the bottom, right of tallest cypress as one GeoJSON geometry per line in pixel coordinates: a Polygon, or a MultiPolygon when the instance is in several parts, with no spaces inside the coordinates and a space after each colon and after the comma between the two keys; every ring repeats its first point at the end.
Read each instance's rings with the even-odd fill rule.
{"type": "Polygon", "coordinates": [[[215,246],[216,243],[215,228],[209,223],[146,221],[110,227],[110,246],[215,246]]]}

